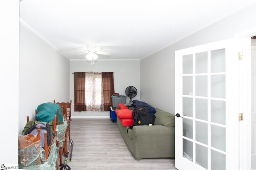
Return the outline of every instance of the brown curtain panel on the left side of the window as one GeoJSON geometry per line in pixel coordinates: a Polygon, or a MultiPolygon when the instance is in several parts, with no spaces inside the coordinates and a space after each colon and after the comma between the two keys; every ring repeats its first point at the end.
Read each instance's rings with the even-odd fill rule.
{"type": "Polygon", "coordinates": [[[74,72],[75,111],[86,111],[85,106],[85,72],[74,72]]]}

